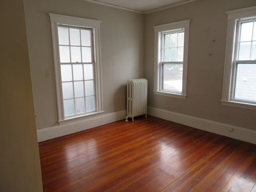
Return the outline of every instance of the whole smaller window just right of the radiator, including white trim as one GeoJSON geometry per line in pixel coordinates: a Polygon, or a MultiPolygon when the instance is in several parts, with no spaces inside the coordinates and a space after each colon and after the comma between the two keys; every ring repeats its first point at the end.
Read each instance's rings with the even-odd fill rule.
{"type": "Polygon", "coordinates": [[[190,20],[154,26],[154,93],[186,98],[190,20]]]}

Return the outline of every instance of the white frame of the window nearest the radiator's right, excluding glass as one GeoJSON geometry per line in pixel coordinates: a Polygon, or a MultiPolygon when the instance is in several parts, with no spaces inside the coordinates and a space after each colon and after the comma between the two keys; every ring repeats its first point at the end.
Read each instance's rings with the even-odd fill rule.
{"type": "MultiPolygon", "coordinates": [[[[190,20],[173,22],[154,26],[155,32],[155,52],[154,52],[154,94],[171,96],[185,99],[187,97],[187,70],[188,70],[188,37],[190,20]],[[172,62],[162,62],[162,34],[167,31],[184,29],[184,54],[183,54],[183,74],[182,92],[162,90],[162,64],[172,62]]],[[[175,62],[179,63],[179,62],[175,62]]]]}

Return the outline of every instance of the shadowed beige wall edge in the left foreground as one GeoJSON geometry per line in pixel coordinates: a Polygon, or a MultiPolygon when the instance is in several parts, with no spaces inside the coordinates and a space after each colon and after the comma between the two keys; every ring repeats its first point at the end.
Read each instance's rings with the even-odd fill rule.
{"type": "Polygon", "coordinates": [[[0,1],[0,191],[42,192],[22,0],[0,1]]]}

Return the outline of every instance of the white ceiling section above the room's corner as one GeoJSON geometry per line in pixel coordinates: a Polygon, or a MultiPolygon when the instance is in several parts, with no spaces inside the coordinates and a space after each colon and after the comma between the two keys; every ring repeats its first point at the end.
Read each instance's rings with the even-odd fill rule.
{"type": "Polygon", "coordinates": [[[85,0],[112,6],[140,13],[149,13],[157,10],[178,6],[180,4],[196,1],[196,0],[85,0]]]}

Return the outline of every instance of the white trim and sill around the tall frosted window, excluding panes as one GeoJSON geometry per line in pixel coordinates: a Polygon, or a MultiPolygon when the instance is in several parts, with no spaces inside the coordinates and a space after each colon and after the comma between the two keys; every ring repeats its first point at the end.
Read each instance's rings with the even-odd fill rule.
{"type": "Polygon", "coordinates": [[[102,110],[102,90],[101,90],[101,70],[100,70],[100,23],[99,20],[92,20],[86,18],[78,18],[72,16],[65,16],[59,14],[49,13],[50,22],[52,26],[52,44],[54,55],[54,69],[55,69],[55,81],[56,81],[56,94],[57,94],[57,107],[58,107],[58,122],[59,124],[66,124],[70,122],[76,122],[83,120],[84,118],[91,118],[97,116],[104,111],[102,110]],[[96,94],[96,112],[76,115],[70,118],[64,116],[64,106],[62,97],[62,84],[61,84],[61,71],[60,71],[60,57],[58,48],[58,24],[64,24],[69,26],[78,26],[92,28],[93,40],[94,40],[94,62],[95,62],[95,94],[96,94]]]}

